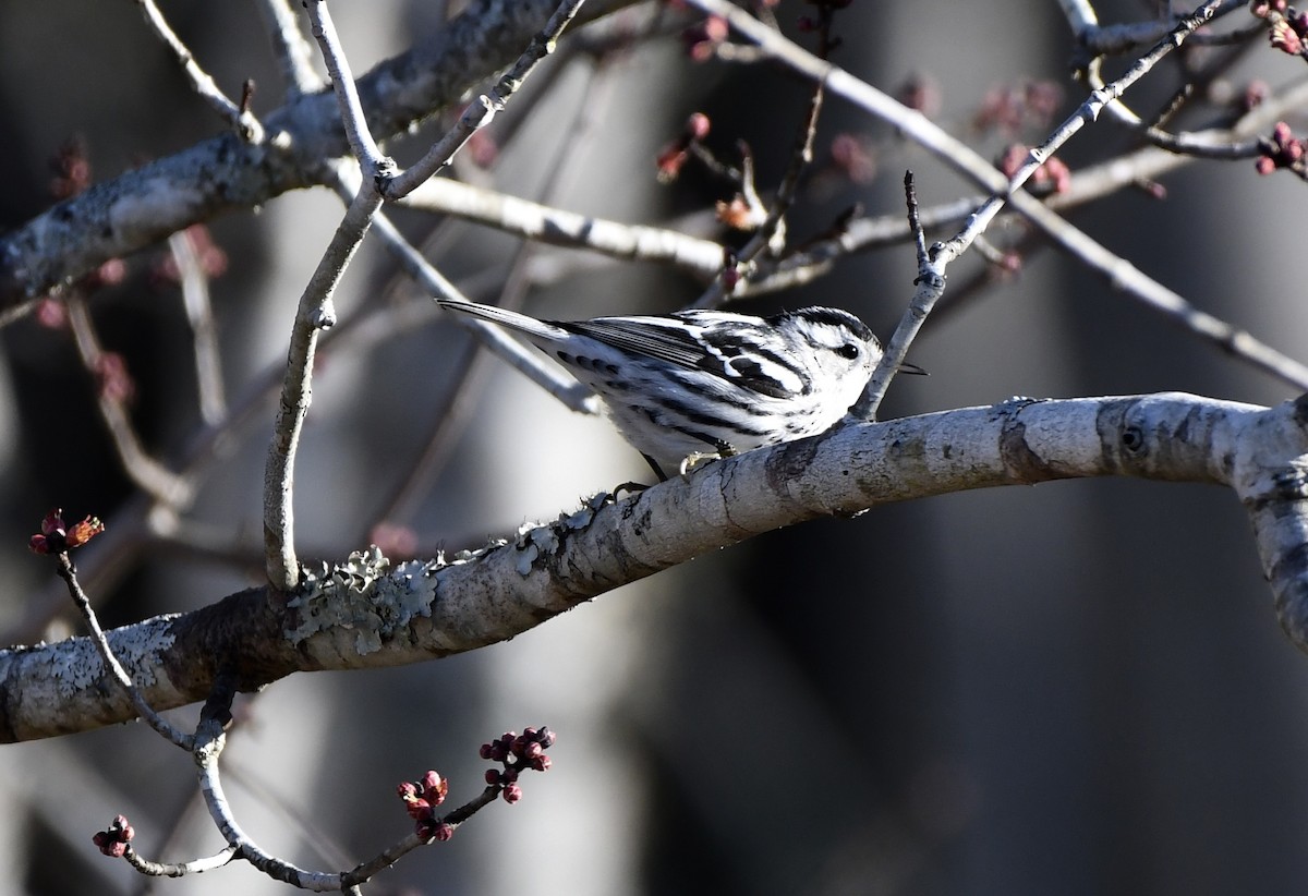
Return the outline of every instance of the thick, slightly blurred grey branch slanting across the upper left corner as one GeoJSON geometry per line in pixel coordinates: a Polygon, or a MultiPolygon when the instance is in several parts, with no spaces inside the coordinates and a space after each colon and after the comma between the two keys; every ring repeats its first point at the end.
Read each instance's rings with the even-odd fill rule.
{"type": "MultiPolygon", "coordinates": [[[[587,8],[595,17],[621,5],[587,8]]],[[[446,27],[358,78],[377,139],[405,132],[518,59],[555,12],[553,0],[473,0],[446,27]]],[[[222,133],[93,184],[0,237],[0,313],[221,212],[254,208],[322,182],[322,160],[349,153],[331,90],[300,97],[263,119],[268,139],[222,133]]]]}

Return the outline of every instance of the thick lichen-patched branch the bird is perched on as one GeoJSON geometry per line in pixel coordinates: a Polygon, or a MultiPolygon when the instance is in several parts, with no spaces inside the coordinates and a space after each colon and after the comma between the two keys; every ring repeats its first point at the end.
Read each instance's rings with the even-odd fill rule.
{"type": "MultiPolygon", "coordinates": [[[[374,551],[110,633],[156,709],[207,696],[220,664],[252,689],[294,671],[396,666],[521,634],[620,585],[781,526],[910,498],[1076,476],[1232,487],[1249,510],[1282,625],[1308,650],[1308,398],[1260,408],[1167,394],[1039,402],[848,425],[706,464],[616,504],[526,527],[453,564],[374,551]]],[[[135,710],[86,638],[0,651],[0,740],[122,722],[135,710]]]]}

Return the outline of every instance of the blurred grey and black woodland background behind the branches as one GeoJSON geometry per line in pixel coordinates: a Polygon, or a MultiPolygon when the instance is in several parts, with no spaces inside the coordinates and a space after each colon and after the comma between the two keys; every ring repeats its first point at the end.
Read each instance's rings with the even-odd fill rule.
{"type": "MultiPolygon", "coordinates": [[[[1138,21],[1156,5],[1097,9],[1104,22],[1138,21]]],[[[281,86],[256,7],[164,9],[230,95],[256,80],[254,109],[266,114],[281,86]]],[[[433,34],[450,12],[334,4],[356,72],[433,34]]],[[[794,35],[810,12],[782,3],[776,16],[794,35]]],[[[651,14],[637,7],[623,27],[651,14]]],[[[565,46],[497,119],[481,165],[464,157],[458,175],[569,211],[722,237],[710,211],[729,187],[695,166],[659,184],[655,157],[702,111],[709,146],[735,161],[746,140],[770,187],[807,88],[766,64],[692,61],[680,35],[692,18],[666,16],[663,35],[637,44],[599,55],[565,46]]],[[[1042,133],[1033,122],[978,129],[994,92],[1059,84],[1057,118],[1083,95],[1067,77],[1075,47],[1054,3],[853,4],[837,27],[835,61],[891,93],[933,85],[933,118],[985,156],[1042,133]]],[[[1301,60],[1264,46],[1257,38],[1214,90],[1303,77],[1301,60]]],[[[1158,109],[1177,84],[1175,69],[1159,72],[1130,99],[1158,109]]],[[[387,149],[412,161],[442,122],[387,149]]],[[[48,207],[48,160],[71,137],[107,179],[220,127],[131,4],[0,3],[9,173],[0,228],[48,207]]],[[[1063,158],[1075,177],[1133,145],[1100,123],[1063,158]]],[[[791,217],[797,243],[855,203],[900,215],[906,167],[923,207],[974,192],[840,101],[828,102],[816,154],[791,217]]],[[[1070,217],[1197,306],[1304,358],[1308,313],[1294,292],[1301,184],[1260,178],[1241,161],[1198,162],[1164,186],[1165,200],[1126,190],[1070,217]]],[[[199,497],[173,528],[124,477],[68,331],[31,317],[0,330],[7,642],[76,632],[50,565],[26,551],[51,506],[109,526],[78,561],[106,624],[194,610],[259,582],[269,385],[339,217],[319,190],[212,222],[225,256],[209,285],[222,382],[245,413],[204,443],[199,497]]],[[[395,220],[472,298],[522,301],[542,317],[667,311],[701,289],[651,264],[523,250],[416,212],[395,220]]],[[[990,276],[976,254],[951,268],[948,301],[912,353],[931,377],[896,381],[883,416],[1011,395],[1292,398],[1074,260],[1024,243],[1019,226],[989,237],[1023,246],[1020,273],[990,276]]],[[[105,349],[126,361],[143,442],[179,468],[201,419],[181,293],[160,276],[166,255],[160,246],[127,259],[126,279],[89,307],[105,349]]],[[[914,272],[905,246],[859,254],[748,310],[840,305],[888,337],[914,272]]],[[[371,239],[337,309],[341,332],[322,352],[298,466],[301,553],[341,559],[379,531],[411,539],[417,556],[476,547],[647,476],[603,420],[568,412],[475,353],[371,239]]],[[[456,804],[481,789],[483,740],[526,725],[559,732],[553,769],[525,781],[521,804],[489,807],[369,893],[1294,892],[1308,876],[1305,698],[1308,658],[1278,628],[1233,496],[1087,480],[810,523],[472,655],[293,676],[242,698],[225,764],[238,818],[260,845],[341,869],[409,831],[392,795],[399,781],[437,768],[456,804]]],[[[92,833],[116,812],[152,858],[222,845],[195,798],[190,759],[140,726],[4,747],[0,799],[9,807],[0,875],[12,892],[285,892],[241,865],[149,882],[94,850],[92,833]]]]}

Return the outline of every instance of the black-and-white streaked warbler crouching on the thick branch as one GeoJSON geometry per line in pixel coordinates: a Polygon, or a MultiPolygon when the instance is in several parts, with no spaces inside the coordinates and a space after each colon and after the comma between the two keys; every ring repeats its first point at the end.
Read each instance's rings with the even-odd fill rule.
{"type": "Polygon", "coordinates": [[[517,330],[603,399],[659,479],[687,460],[820,433],[858,400],[882,345],[840,309],[538,320],[475,302],[442,307],[517,330]]]}

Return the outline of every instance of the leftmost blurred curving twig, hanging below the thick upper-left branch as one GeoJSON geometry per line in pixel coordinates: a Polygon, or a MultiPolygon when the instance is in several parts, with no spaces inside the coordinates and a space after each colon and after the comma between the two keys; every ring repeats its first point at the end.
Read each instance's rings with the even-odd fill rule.
{"type": "Polygon", "coordinates": [[[95,407],[99,409],[101,420],[105,421],[105,428],[114,442],[114,450],[118,453],[123,471],[156,501],[169,506],[186,504],[191,500],[191,484],[145,451],[136,436],[136,428],[132,426],[131,417],[123,407],[124,396],[118,392],[127,388],[123,383],[131,381],[127,371],[114,364],[115,361],[120,364],[122,358],[112,356],[111,360],[111,356],[101,348],[90,311],[82,298],[69,296],[67,307],[68,324],[73,332],[73,341],[77,344],[77,353],[86,370],[97,378],[95,407]],[[111,366],[112,370],[110,370],[111,366]],[[118,386],[105,381],[112,381],[118,386]]]}

